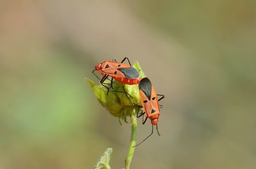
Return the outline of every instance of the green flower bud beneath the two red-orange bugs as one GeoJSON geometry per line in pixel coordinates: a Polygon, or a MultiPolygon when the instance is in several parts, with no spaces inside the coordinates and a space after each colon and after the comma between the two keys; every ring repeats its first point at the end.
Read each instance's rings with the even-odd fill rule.
{"type": "MultiPolygon", "coordinates": [[[[140,78],[145,77],[145,74],[140,68],[140,64],[138,62],[135,62],[133,67],[140,72],[140,78]]],[[[138,89],[138,85],[125,85],[121,84],[120,82],[117,82],[116,80],[113,80],[113,90],[111,91],[106,89],[101,84],[95,84],[90,79],[86,79],[88,84],[91,85],[95,97],[99,100],[100,104],[105,107],[111,115],[114,115],[115,117],[119,117],[124,119],[126,122],[126,117],[130,116],[133,112],[136,112],[134,109],[138,109],[137,107],[132,106],[131,102],[129,99],[132,101],[132,103],[136,105],[141,106],[141,101],[140,101],[140,93],[138,89]],[[129,93],[131,96],[125,95],[124,92],[115,92],[115,91],[124,91],[129,93]],[[108,92],[108,95],[107,95],[108,92]]],[[[110,84],[110,80],[106,80],[104,83],[110,84]]]]}

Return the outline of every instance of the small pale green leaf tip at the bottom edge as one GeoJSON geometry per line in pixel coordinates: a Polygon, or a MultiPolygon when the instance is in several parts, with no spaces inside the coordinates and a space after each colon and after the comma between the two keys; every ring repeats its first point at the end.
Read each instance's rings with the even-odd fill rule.
{"type": "Polygon", "coordinates": [[[95,166],[93,166],[93,169],[100,169],[100,168],[110,169],[109,161],[111,159],[112,151],[113,151],[112,148],[106,149],[106,151],[102,154],[98,163],[95,166]]]}

